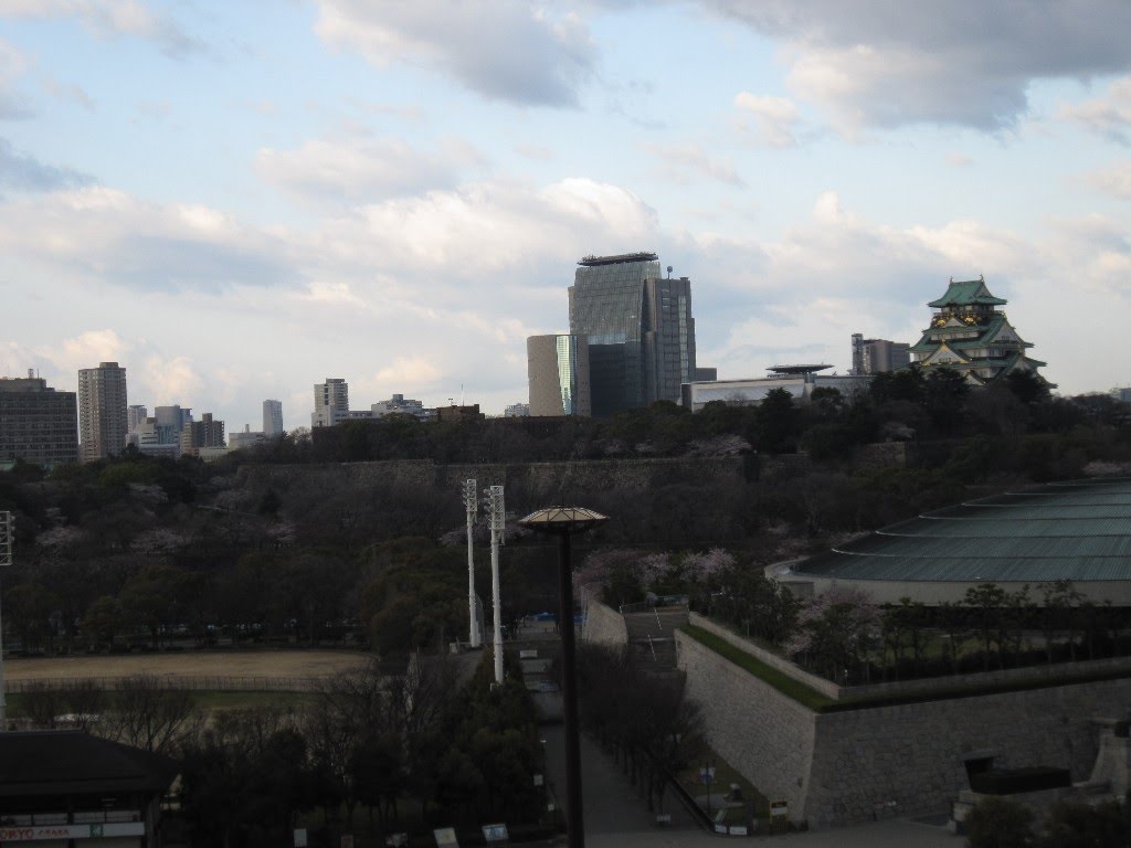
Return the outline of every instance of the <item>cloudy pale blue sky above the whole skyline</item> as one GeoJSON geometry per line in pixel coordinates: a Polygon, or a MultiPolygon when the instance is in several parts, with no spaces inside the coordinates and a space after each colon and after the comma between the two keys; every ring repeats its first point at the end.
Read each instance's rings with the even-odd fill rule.
{"type": "Polygon", "coordinates": [[[983,276],[1131,383],[1126,0],[0,0],[0,375],[260,429],[489,414],[587,254],[691,279],[720,379],[914,343],[983,276]]]}

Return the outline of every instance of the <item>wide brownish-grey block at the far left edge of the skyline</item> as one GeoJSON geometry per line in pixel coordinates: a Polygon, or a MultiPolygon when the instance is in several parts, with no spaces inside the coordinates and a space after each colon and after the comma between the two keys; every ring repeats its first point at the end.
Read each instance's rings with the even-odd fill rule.
{"type": "Polygon", "coordinates": [[[0,462],[16,459],[46,466],[78,461],[74,391],[55,391],[31,373],[0,378],[0,462]]]}

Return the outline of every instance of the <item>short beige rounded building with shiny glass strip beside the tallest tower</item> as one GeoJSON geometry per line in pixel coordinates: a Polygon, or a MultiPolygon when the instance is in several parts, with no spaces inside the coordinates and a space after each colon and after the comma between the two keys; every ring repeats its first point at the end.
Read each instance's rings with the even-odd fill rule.
{"type": "Polygon", "coordinates": [[[530,380],[528,415],[593,415],[585,336],[530,336],[526,339],[526,373],[530,380]]]}

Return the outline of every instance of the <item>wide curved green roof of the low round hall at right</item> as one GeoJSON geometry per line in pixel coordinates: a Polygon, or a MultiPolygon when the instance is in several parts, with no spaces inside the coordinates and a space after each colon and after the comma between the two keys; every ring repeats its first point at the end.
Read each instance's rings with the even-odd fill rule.
{"type": "Polygon", "coordinates": [[[1131,477],[1054,483],[930,512],[796,565],[837,580],[1131,580],[1131,477]]]}

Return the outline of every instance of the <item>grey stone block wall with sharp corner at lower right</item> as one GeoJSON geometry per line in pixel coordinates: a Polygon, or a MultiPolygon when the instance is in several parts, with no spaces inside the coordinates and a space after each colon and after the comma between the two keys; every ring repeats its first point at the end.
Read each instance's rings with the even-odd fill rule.
{"type": "Polygon", "coordinates": [[[949,810],[969,788],[965,763],[1054,765],[1086,780],[1094,718],[1123,717],[1131,678],[896,707],[817,713],[690,637],[676,634],[688,693],[713,747],[791,817],[813,827],[949,810]]]}

